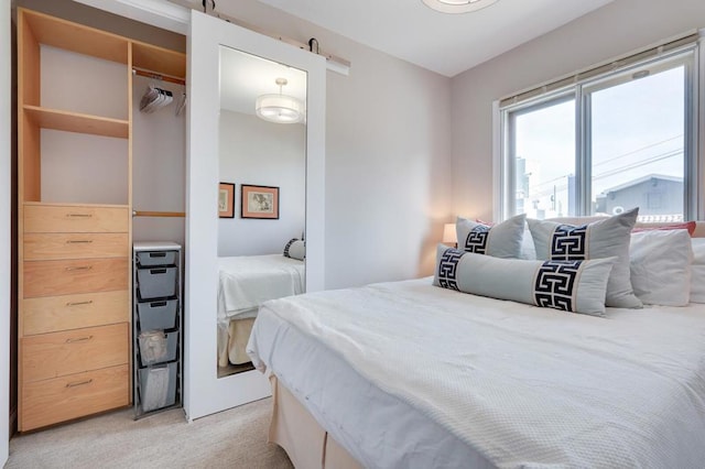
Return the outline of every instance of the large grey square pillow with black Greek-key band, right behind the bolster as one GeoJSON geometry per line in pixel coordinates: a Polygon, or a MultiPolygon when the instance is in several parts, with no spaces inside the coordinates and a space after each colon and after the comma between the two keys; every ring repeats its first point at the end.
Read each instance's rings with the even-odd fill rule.
{"type": "Polygon", "coordinates": [[[577,261],[617,258],[607,282],[607,306],[640,308],[629,279],[629,241],[639,208],[588,225],[561,225],[556,221],[529,219],[536,248],[536,259],[577,261]]]}

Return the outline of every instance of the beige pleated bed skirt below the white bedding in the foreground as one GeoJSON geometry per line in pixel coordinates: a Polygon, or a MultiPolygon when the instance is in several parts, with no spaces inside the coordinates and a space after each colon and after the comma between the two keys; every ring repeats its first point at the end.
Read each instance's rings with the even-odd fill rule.
{"type": "Polygon", "coordinates": [[[362,469],[284,388],[275,375],[272,385],[272,422],[269,440],[281,446],[296,469],[362,469]]]}

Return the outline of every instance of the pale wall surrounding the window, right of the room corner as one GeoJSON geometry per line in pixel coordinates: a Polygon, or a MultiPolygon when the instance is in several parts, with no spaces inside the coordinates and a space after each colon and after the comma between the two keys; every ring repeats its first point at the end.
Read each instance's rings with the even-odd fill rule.
{"type": "Polygon", "coordinates": [[[492,217],[492,101],[705,26],[702,0],[616,0],[453,78],[453,212],[492,217]]]}

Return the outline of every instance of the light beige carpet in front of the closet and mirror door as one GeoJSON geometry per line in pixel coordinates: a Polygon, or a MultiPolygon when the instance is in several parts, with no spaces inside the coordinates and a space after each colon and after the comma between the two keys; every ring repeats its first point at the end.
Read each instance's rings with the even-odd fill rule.
{"type": "Polygon", "coordinates": [[[10,440],[6,468],[292,468],[267,443],[272,400],[188,424],[181,408],[132,419],[118,411],[10,440]]]}

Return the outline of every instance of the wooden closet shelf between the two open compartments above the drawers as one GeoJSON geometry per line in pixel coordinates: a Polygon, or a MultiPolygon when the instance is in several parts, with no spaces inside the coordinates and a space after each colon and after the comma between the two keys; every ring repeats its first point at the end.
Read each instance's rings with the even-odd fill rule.
{"type": "Polygon", "coordinates": [[[43,129],[117,137],[120,139],[127,139],[129,134],[130,123],[127,120],[59,111],[30,105],[24,105],[24,112],[32,122],[43,129]]]}

